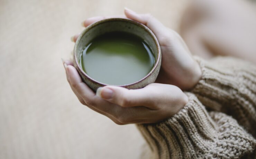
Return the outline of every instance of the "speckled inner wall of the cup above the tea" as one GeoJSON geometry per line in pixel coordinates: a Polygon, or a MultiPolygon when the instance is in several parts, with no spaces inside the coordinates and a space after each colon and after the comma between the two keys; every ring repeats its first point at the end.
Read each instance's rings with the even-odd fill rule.
{"type": "Polygon", "coordinates": [[[123,18],[102,20],[86,28],[81,33],[82,36],[77,39],[79,41],[77,47],[75,47],[75,56],[77,61],[80,61],[85,46],[87,46],[95,37],[113,31],[131,33],[144,39],[154,54],[156,64],[158,58],[158,49],[157,41],[153,32],[138,22],[123,18]]]}

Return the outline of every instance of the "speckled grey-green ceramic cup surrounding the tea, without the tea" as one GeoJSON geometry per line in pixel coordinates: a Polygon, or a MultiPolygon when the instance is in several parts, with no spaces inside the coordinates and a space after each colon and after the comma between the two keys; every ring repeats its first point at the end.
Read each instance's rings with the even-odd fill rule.
{"type": "Polygon", "coordinates": [[[90,76],[88,76],[80,67],[79,59],[81,58],[82,50],[86,45],[90,43],[92,39],[94,39],[95,37],[101,34],[104,34],[106,32],[112,32],[112,31],[128,32],[141,37],[148,43],[148,45],[152,49],[153,54],[156,58],[154,67],[144,78],[131,84],[118,85],[118,86],[125,87],[128,89],[138,89],[138,88],[143,88],[150,83],[154,83],[161,66],[161,49],[157,41],[157,38],[154,35],[154,33],[145,25],[140,24],[133,20],[123,19],[123,18],[110,18],[110,19],[104,19],[104,20],[95,22],[94,24],[85,28],[80,34],[80,36],[77,38],[75,47],[74,47],[73,62],[74,62],[74,67],[77,69],[78,73],[82,77],[82,80],[94,92],[99,87],[107,85],[107,84],[95,81],[90,76]]]}

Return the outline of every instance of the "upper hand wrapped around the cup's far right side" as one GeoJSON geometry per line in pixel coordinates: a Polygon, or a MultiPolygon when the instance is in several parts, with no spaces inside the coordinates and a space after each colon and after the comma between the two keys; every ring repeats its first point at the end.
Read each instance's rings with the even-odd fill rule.
{"type": "MultiPolygon", "coordinates": [[[[199,64],[192,58],[180,35],[166,28],[149,14],[137,14],[134,11],[125,9],[125,15],[129,19],[149,27],[159,41],[162,51],[162,65],[156,82],[176,85],[182,90],[193,88],[198,83],[202,73],[199,64]]],[[[119,17],[126,18],[124,16],[119,17]]],[[[106,18],[112,17],[93,17],[85,20],[82,24],[87,27],[96,21],[106,18]]],[[[72,37],[72,40],[75,41],[78,36],[72,37]]]]}

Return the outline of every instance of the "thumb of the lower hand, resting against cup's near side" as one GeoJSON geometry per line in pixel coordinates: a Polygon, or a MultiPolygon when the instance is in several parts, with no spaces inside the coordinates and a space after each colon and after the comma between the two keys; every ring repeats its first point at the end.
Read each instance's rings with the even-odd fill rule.
{"type": "Polygon", "coordinates": [[[96,92],[104,100],[123,106],[149,106],[150,98],[146,88],[128,90],[118,86],[104,86],[98,88],[96,92]]]}

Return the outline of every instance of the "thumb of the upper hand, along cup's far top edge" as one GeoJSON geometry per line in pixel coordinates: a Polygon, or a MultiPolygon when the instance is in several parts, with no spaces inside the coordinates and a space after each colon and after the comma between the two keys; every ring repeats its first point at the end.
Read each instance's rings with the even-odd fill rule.
{"type": "Polygon", "coordinates": [[[154,32],[158,39],[165,36],[166,32],[168,32],[167,28],[150,14],[138,14],[135,11],[125,8],[125,15],[131,20],[135,20],[146,25],[154,32]]]}

